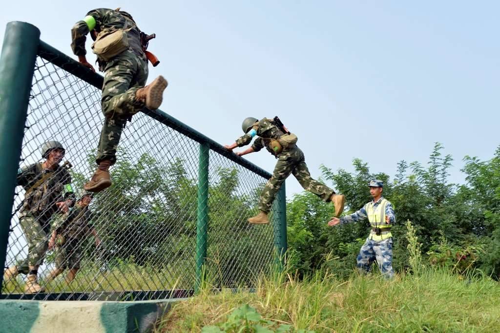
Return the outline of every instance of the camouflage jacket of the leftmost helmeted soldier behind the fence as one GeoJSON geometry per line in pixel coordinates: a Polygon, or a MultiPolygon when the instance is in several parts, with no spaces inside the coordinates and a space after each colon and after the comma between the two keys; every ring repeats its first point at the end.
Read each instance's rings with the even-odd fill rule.
{"type": "Polygon", "coordinates": [[[21,214],[51,216],[58,210],[56,202],[74,196],[70,183],[69,172],[61,166],[57,166],[53,171],[43,169],[42,163],[21,167],[17,171],[17,185],[22,186],[25,191],[29,191],[24,193],[21,214]],[[37,184],[47,172],[51,172],[51,174],[37,184]]]}

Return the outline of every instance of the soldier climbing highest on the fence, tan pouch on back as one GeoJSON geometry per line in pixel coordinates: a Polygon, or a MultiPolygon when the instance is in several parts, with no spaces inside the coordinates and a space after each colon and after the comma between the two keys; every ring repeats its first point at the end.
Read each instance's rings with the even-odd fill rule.
{"type": "Polygon", "coordinates": [[[158,108],[167,85],[165,78],[158,76],[144,86],[148,69],[140,30],[132,16],[119,8],[93,9],[83,20],[76,22],[71,29],[71,48],[78,56],[78,61],[94,70],[85,57],[85,35],[90,32],[95,40],[116,30],[126,31],[128,48],[107,60],[97,55],[99,69],[104,71],[101,97],[104,124],[95,158],[98,167],[90,181],[83,186],[92,192],[101,191],[111,185],[109,166],[116,161],[116,148],[126,121],[144,107],[158,108]]]}

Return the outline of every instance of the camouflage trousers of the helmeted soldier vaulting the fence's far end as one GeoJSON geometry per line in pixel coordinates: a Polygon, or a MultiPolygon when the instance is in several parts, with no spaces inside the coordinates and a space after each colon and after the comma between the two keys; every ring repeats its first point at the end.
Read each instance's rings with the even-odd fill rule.
{"type": "Polygon", "coordinates": [[[258,208],[262,211],[269,212],[271,210],[272,201],[276,196],[279,187],[289,175],[293,174],[300,185],[309,192],[321,197],[324,201],[329,201],[333,190],[312,179],[305,164],[304,153],[298,147],[283,151],[278,158],[271,178],[267,181],[260,194],[258,208]]]}

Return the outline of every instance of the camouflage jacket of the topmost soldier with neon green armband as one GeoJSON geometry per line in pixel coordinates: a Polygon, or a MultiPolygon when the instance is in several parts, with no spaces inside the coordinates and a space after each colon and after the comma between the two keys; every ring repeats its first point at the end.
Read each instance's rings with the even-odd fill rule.
{"type": "MultiPolygon", "coordinates": [[[[95,31],[99,33],[104,29],[117,30],[122,28],[130,28],[128,32],[129,48],[138,56],[145,58],[140,43],[140,30],[125,12],[116,11],[108,8],[98,8],[87,12],[86,16],[92,16],[95,19],[95,31]]],[[[75,55],[85,55],[85,40],[86,34],[89,32],[87,23],[83,20],[74,24],[71,29],[71,49],[75,55]]],[[[101,63],[99,63],[100,65],[101,63]]]]}

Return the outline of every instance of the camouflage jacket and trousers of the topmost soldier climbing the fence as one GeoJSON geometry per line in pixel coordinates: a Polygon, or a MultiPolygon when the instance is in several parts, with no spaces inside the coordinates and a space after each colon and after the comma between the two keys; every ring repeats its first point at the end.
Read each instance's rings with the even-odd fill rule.
{"type": "MultiPolygon", "coordinates": [[[[87,16],[95,19],[95,31],[103,29],[130,28],[127,32],[129,47],[109,61],[99,61],[104,71],[101,106],[104,124],[97,147],[97,164],[102,160],[116,161],[116,148],[127,119],[144,108],[144,101],[135,98],[136,91],[147,79],[147,58],[140,43],[140,30],[125,12],[107,8],[90,10],[87,16]]],[[[89,32],[87,23],[76,22],[71,29],[71,48],[75,55],[85,55],[85,35],[89,32]]]]}

